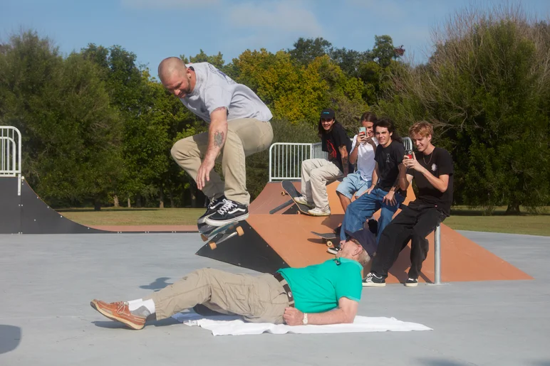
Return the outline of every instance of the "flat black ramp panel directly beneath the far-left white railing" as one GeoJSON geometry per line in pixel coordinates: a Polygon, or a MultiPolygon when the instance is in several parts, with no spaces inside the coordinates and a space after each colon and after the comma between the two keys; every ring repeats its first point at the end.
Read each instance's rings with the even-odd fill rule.
{"type": "Polygon", "coordinates": [[[21,197],[17,195],[17,178],[0,178],[0,234],[21,232],[21,197]]]}

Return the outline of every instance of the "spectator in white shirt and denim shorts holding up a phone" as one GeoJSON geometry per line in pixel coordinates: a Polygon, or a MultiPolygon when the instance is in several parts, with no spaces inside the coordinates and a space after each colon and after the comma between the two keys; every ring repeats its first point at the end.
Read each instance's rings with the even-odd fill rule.
{"type": "Polygon", "coordinates": [[[336,188],[338,198],[344,212],[351,203],[353,195],[360,197],[370,187],[373,181],[373,171],[376,165],[374,154],[378,141],[374,136],[376,114],[365,112],[361,116],[359,133],[353,136],[351,144],[350,163],[357,166],[355,173],[348,174],[336,188]]]}

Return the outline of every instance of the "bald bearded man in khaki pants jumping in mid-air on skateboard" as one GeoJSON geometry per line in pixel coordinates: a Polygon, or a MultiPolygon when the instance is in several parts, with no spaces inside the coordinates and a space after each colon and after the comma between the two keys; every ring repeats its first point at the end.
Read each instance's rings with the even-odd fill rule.
{"type": "Polygon", "coordinates": [[[267,149],[273,140],[271,112],[249,89],[209,63],[185,65],[165,58],[158,67],[162,85],[209,124],[208,132],[186,137],[172,157],[210,200],[198,224],[222,226],[248,217],[246,156],[267,149]],[[222,163],[225,181],[212,169],[222,163]]]}

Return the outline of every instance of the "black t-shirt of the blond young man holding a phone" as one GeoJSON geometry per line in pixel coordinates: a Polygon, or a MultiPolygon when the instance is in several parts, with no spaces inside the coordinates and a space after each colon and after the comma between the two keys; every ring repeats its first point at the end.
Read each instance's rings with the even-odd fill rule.
{"type": "Polygon", "coordinates": [[[447,216],[451,214],[452,203],[452,185],[454,169],[452,166],[452,158],[449,152],[445,149],[436,147],[433,149],[432,154],[424,155],[422,153],[415,153],[416,160],[421,166],[427,169],[432,175],[439,178],[442,175],[447,174],[449,176],[449,185],[447,190],[441,192],[437,190],[426,177],[413,169],[408,169],[407,174],[413,176],[418,188],[418,196],[415,200],[417,203],[423,203],[426,205],[435,205],[437,208],[447,216]]]}

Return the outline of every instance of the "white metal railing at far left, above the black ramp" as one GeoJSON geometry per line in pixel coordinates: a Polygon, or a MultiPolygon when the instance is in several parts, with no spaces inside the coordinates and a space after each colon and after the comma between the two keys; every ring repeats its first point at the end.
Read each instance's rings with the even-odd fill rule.
{"type": "Polygon", "coordinates": [[[21,176],[21,132],[0,126],[0,177],[21,176]]]}

